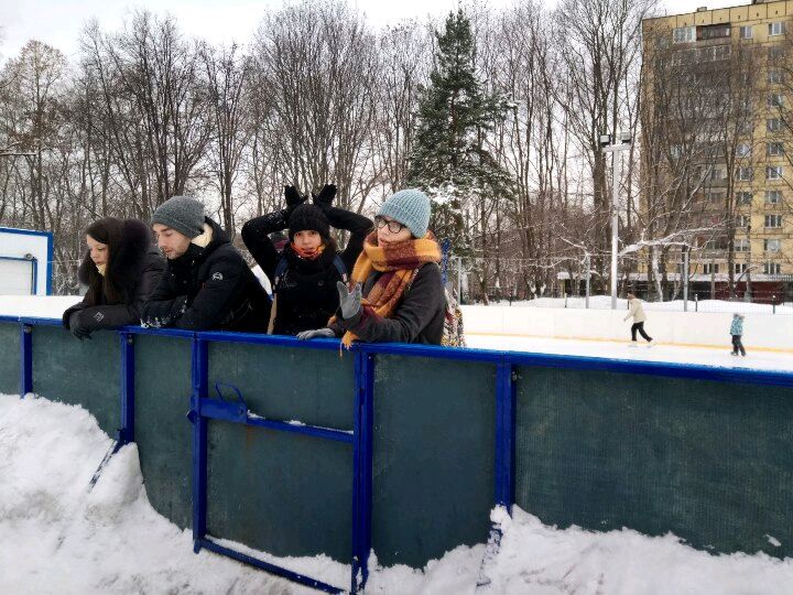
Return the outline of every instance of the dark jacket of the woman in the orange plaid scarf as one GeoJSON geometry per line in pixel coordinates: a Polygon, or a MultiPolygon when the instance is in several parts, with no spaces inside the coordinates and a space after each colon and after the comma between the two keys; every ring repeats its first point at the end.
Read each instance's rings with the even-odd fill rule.
{"type": "MultiPolygon", "coordinates": [[[[369,295],[381,272],[372,272],[363,283],[363,298],[369,295]]],[[[441,268],[435,262],[422,264],[413,283],[405,290],[399,305],[388,318],[361,310],[345,321],[340,316],[329,325],[341,337],[352,331],[367,343],[422,343],[441,345],[446,314],[446,295],[441,268]]]]}

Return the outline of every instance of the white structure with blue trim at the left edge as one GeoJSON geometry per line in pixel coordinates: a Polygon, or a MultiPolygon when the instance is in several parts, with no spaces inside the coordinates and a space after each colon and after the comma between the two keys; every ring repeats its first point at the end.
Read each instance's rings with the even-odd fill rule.
{"type": "Polygon", "coordinates": [[[52,293],[53,236],[0,227],[0,295],[52,293]]]}

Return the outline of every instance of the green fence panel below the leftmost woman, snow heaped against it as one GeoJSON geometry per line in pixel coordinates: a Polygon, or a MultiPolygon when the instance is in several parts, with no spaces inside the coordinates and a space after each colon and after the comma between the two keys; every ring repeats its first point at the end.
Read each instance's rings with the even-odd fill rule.
{"type": "Polygon", "coordinates": [[[59,326],[33,326],[33,392],[79,404],[115,439],[121,426],[118,334],[99,331],[78,340],[59,326]]]}

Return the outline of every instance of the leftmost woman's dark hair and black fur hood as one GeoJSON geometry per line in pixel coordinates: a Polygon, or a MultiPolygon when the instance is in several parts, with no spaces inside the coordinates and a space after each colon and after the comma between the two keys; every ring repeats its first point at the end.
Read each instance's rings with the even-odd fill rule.
{"type": "Polygon", "coordinates": [[[143,270],[145,255],[152,246],[151,229],[138,219],[105,217],[88,226],[86,235],[107,245],[109,257],[105,275],[87,251],[80,263],[78,278],[88,285],[86,301],[96,305],[104,295],[107,303],[122,303],[134,293],[143,270]]]}

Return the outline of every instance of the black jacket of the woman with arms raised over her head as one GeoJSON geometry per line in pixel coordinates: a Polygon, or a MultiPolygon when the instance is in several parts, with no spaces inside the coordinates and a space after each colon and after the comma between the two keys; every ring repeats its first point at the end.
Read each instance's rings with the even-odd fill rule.
{"type": "MultiPolygon", "coordinates": [[[[368,218],[336,207],[324,207],[329,224],[350,231],[347,248],[339,253],[347,271],[352,270],[363,249],[363,239],[372,228],[368,218]]],[[[341,280],[334,266],[336,250],[328,247],[316,260],[298,257],[286,245],[282,252],[273,246],[269,234],[285,229],[289,210],[278,210],[251,219],[242,226],[242,241],[268,275],[273,285],[275,321],[273,333],[296,335],[301,331],[322,328],[338,309],[336,282],[341,280]],[[286,259],[286,272],[275,282],[275,268],[281,258],[286,259]]]]}

